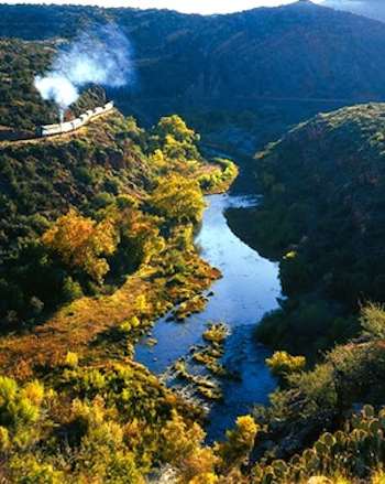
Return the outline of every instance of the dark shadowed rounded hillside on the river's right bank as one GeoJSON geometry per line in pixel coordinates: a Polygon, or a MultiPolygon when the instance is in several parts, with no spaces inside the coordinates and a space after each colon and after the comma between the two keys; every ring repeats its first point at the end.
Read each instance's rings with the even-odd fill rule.
{"type": "Polygon", "coordinates": [[[283,257],[289,300],[261,326],[265,341],[324,347],[354,331],[341,316],[366,300],[384,302],[384,119],[383,104],[321,114],[258,153],[265,197],[253,228],[240,226],[237,211],[229,217],[254,246],[283,257]]]}

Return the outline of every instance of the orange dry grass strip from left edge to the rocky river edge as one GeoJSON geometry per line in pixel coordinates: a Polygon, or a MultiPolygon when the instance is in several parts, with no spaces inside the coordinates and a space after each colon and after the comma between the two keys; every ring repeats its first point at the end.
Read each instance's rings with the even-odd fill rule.
{"type": "Polygon", "coordinates": [[[89,363],[111,358],[108,345],[90,345],[98,335],[119,326],[122,322],[141,314],[146,321],[158,318],[168,303],[176,303],[180,293],[200,293],[218,278],[219,273],[189,252],[190,263],[198,267],[194,277],[169,291],[166,279],[156,278],[157,268],[144,267],[112,295],[81,298],[57,311],[45,324],[24,335],[10,335],[0,340],[0,366],[2,372],[18,379],[30,378],[36,368],[56,366],[65,359],[68,351],[77,353],[89,363]],[[144,298],[143,298],[144,297],[144,298]],[[144,308],[143,308],[144,302],[144,308]]]}

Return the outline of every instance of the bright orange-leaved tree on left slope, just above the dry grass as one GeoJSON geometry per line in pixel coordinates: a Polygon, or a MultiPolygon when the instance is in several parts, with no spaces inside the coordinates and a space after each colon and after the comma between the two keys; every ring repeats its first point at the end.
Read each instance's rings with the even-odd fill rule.
{"type": "Polygon", "coordinates": [[[70,209],[56,221],[42,240],[65,263],[82,269],[100,283],[109,271],[107,260],[101,256],[116,251],[118,235],[112,222],[97,223],[70,209]]]}

